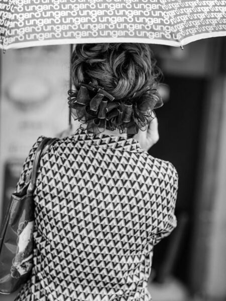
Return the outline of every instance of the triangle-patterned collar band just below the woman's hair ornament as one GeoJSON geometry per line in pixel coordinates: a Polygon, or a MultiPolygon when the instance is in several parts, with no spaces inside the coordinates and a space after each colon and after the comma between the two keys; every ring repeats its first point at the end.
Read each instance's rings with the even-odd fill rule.
{"type": "Polygon", "coordinates": [[[127,138],[126,136],[110,135],[109,131],[100,133],[95,136],[89,136],[84,129],[78,128],[72,135],[76,141],[82,141],[86,144],[94,144],[103,148],[113,148],[118,150],[127,150],[128,152],[142,152],[140,143],[134,138],[127,138]]]}

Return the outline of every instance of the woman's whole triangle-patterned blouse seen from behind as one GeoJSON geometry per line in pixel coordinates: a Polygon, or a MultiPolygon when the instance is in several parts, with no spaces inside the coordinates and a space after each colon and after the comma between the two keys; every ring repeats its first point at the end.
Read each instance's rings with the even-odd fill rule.
{"type": "Polygon", "coordinates": [[[150,301],[153,247],[176,227],[177,181],[133,138],[78,129],[57,139],[41,158],[34,266],[15,301],[150,301]]]}

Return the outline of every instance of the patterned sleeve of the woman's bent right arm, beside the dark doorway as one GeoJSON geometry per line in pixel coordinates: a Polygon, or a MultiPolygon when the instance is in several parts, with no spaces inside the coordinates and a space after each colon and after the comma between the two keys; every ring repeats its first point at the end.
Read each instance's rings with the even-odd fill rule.
{"type": "Polygon", "coordinates": [[[167,223],[164,229],[162,229],[159,233],[155,235],[154,245],[159,243],[164,237],[167,237],[171,234],[171,232],[177,226],[177,219],[175,216],[175,206],[176,206],[176,199],[177,199],[177,190],[178,190],[178,174],[173,165],[173,185],[171,189],[171,198],[169,200],[169,204],[167,206],[168,213],[167,213],[167,223]]]}

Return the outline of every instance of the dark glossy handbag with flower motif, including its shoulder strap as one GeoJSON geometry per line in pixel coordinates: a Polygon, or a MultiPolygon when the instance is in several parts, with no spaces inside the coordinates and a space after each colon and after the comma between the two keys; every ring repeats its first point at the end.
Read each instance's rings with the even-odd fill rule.
{"type": "Polygon", "coordinates": [[[36,175],[41,155],[54,139],[38,145],[32,171],[22,192],[13,193],[0,232],[0,292],[11,293],[25,283],[33,266],[33,228],[36,175]]]}

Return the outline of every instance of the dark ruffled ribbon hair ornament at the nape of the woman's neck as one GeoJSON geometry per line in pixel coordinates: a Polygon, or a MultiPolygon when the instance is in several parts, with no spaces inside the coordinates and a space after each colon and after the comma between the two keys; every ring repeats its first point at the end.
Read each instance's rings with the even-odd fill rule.
{"type": "Polygon", "coordinates": [[[78,91],[68,91],[68,104],[73,118],[82,122],[88,133],[98,134],[105,129],[136,134],[145,130],[152,111],[163,105],[157,89],[137,91],[127,100],[116,100],[102,87],[80,84],[78,91]],[[148,94],[149,97],[142,96],[148,94]],[[127,130],[126,130],[127,129],[127,130]]]}

